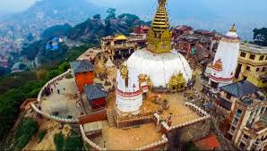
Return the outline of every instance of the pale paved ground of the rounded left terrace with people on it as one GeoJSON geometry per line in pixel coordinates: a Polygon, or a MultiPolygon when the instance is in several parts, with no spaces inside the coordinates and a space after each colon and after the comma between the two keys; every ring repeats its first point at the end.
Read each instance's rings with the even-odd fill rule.
{"type": "Polygon", "coordinates": [[[58,112],[59,116],[65,118],[68,116],[78,117],[80,111],[76,107],[78,96],[76,95],[77,87],[74,79],[63,79],[58,82],[56,88],[54,86],[52,88],[54,93],[41,98],[42,111],[49,114],[58,112]],[[59,89],[60,94],[57,93],[57,89],[59,89]]]}

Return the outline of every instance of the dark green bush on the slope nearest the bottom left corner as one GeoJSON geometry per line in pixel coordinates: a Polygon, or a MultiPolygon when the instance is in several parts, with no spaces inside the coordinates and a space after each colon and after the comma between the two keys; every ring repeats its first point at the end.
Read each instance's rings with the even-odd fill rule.
{"type": "Polygon", "coordinates": [[[32,136],[39,129],[38,122],[31,118],[24,118],[15,130],[15,146],[18,150],[22,150],[25,147],[32,136]]]}

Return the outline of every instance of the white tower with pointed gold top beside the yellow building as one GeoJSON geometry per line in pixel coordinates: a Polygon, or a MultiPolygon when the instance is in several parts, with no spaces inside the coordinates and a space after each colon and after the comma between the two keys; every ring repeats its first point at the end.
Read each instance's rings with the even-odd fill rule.
{"type": "Polygon", "coordinates": [[[221,38],[211,67],[210,85],[212,88],[232,83],[237,67],[240,38],[237,36],[236,25],[221,38]]]}

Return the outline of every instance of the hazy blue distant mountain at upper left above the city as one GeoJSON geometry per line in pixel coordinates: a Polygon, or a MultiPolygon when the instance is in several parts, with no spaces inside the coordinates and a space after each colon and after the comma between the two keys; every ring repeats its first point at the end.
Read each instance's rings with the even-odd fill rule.
{"type": "Polygon", "coordinates": [[[76,24],[96,13],[101,13],[101,9],[86,0],[41,0],[30,6],[25,12],[11,16],[11,19],[29,23],[65,21],[76,24]]]}

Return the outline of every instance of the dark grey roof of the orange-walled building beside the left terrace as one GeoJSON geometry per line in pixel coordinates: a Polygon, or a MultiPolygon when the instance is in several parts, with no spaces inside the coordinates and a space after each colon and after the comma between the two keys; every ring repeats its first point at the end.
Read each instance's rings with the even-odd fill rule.
{"type": "Polygon", "coordinates": [[[71,64],[74,74],[94,70],[93,64],[90,63],[90,61],[88,60],[77,60],[77,61],[71,62],[70,64],[71,64]]]}

